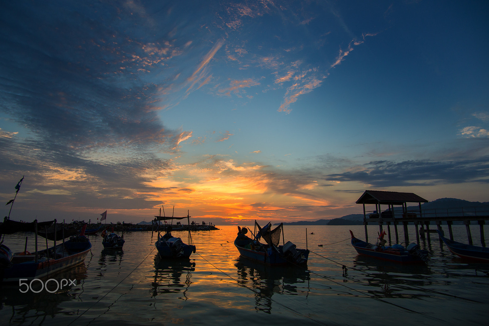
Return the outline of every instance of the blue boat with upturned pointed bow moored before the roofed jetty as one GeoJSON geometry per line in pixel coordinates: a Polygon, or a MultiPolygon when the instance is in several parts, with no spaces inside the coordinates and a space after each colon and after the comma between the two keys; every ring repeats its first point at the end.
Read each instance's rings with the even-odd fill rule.
{"type": "Polygon", "coordinates": [[[422,263],[428,259],[428,252],[422,250],[416,243],[411,243],[406,248],[400,244],[395,244],[392,247],[385,246],[385,243],[387,242],[384,240],[384,235],[386,234],[385,231],[379,233],[378,243],[375,245],[357,239],[351,230],[350,234],[352,235],[352,246],[359,255],[371,256],[399,263],[422,263]]]}

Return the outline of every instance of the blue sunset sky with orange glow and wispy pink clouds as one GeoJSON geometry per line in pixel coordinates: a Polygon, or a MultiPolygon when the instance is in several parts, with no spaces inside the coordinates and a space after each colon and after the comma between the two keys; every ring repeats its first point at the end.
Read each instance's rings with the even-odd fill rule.
{"type": "Polygon", "coordinates": [[[0,6],[12,219],[315,221],[362,213],[367,189],[489,201],[487,1],[0,6]]]}

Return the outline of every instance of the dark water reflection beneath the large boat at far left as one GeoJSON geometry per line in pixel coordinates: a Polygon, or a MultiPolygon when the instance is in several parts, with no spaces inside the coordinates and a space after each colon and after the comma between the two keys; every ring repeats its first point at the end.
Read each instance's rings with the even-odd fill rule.
{"type": "MultiPolygon", "coordinates": [[[[49,282],[45,289],[39,293],[27,291],[21,293],[19,291],[19,284],[3,285],[0,290],[0,309],[4,311],[11,311],[11,317],[5,317],[5,322],[14,325],[42,325],[43,322],[48,319],[51,320],[55,315],[71,315],[73,312],[60,305],[67,301],[77,301],[77,298],[81,291],[80,286],[83,286],[84,279],[87,278],[87,267],[85,263],[71,267],[65,272],[52,274],[49,279],[56,279],[61,281],[62,279],[76,280],[76,285],[64,285],[63,289],[59,289],[54,293],[49,291],[56,290],[56,283],[49,282]],[[7,308],[8,307],[8,308],[7,308]],[[7,322],[7,320],[9,322],[7,322]]],[[[43,281],[47,279],[41,278],[43,281]]],[[[69,284],[69,283],[68,283],[69,284]]],[[[38,291],[38,282],[33,284],[33,290],[38,291]]]]}

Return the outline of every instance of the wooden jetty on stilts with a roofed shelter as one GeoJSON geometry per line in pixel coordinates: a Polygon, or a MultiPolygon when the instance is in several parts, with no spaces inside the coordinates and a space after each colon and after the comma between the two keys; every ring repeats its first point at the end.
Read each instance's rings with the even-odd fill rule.
{"type": "Polygon", "coordinates": [[[423,239],[427,237],[428,241],[430,241],[430,233],[436,233],[436,229],[430,230],[429,228],[431,222],[435,223],[438,230],[441,230],[441,225],[445,222],[448,225],[450,240],[453,240],[452,224],[454,221],[462,221],[466,226],[468,243],[472,245],[470,222],[477,221],[482,246],[486,246],[484,224],[489,220],[489,206],[422,210],[421,203],[427,202],[426,199],[423,199],[412,192],[365,190],[356,201],[356,204],[363,204],[365,241],[368,242],[367,225],[378,224],[380,232],[382,232],[383,225],[387,225],[389,242],[391,241],[390,227],[391,225],[394,225],[396,243],[399,243],[398,225],[402,225],[404,241],[407,244],[409,243],[409,235],[407,232],[409,222],[412,222],[415,225],[416,241],[418,244],[420,243],[420,237],[423,239]],[[408,210],[407,203],[418,203],[419,209],[408,210]],[[375,205],[375,210],[366,210],[365,205],[375,205]],[[384,208],[385,205],[387,205],[387,208],[382,211],[381,205],[384,205],[384,208]]]}

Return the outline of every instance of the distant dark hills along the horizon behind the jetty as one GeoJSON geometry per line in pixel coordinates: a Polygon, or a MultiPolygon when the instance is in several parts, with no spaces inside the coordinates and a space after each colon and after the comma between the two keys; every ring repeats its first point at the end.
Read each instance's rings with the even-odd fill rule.
{"type": "MultiPolygon", "coordinates": [[[[462,208],[462,207],[482,207],[489,206],[489,202],[469,202],[457,198],[439,198],[437,200],[421,204],[422,210],[447,209],[447,208],[462,208]]],[[[402,207],[395,207],[395,211],[401,211],[402,207]]],[[[407,210],[419,210],[419,206],[408,206],[407,210]]],[[[274,225],[279,225],[275,223],[274,225]]],[[[284,223],[284,225],[362,225],[363,214],[349,214],[339,218],[320,219],[317,221],[299,221],[284,223]]]]}

